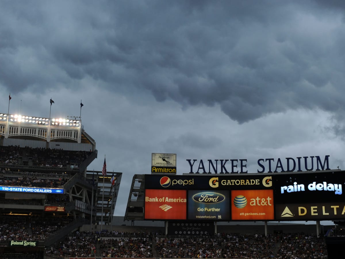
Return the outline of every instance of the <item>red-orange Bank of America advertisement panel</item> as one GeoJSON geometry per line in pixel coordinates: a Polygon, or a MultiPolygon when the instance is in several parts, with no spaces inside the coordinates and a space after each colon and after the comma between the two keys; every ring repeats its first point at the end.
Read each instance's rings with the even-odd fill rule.
{"type": "Polygon", "coordinates": [[[186,190],[145,190],[145,219],[186,219],[186,190]]]}

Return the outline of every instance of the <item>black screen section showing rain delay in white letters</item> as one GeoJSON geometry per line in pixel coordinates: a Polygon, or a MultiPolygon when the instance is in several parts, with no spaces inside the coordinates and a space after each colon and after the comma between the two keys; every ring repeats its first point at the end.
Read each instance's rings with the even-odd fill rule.
{"type": "Polygon", "coordinates": [[[310,172],[274,175],[275,204],[342,202],[343,172],[310,172]]]}

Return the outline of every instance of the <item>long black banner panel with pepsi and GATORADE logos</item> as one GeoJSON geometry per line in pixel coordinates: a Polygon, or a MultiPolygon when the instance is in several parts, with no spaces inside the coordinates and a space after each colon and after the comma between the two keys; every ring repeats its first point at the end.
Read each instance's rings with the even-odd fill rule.
{"type": "Polygon", "coordinates": [[[145,175],[146,189],[262,190],[273,189],[272,175],[145,175]]]}

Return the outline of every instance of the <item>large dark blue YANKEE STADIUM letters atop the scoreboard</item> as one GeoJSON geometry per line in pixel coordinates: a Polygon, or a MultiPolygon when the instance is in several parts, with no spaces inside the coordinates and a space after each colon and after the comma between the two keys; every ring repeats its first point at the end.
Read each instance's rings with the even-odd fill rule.
{"type": "MultiPolygon", "coordinates": [[[[258,173],[278,173],[278,172],[302,172],[331,170],[328,162],[329,155],[322,161],[320,156],[286,157],[285,159],[274,158],[259,159],[257,164],[258,173]],[[284,161],[284,162],[283,162],[284,161]]],[[[190,166],[190,174],[229,174],[229,173],[248,173],[247,159],[208,159],[204,163],[202,159],[186,159],[190,166]],[[198,162],[197,162],[198,161],[198,162]]]]}

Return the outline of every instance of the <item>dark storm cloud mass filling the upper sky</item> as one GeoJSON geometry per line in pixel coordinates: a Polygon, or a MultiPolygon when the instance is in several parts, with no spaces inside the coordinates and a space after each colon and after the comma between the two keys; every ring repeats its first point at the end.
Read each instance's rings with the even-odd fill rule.
{"type": "Polygon", "coordinates": [[[239,123],[296,108],[344,112],[341,2],[0,5],[0,84],[11,92],[90,77],[184,108],[219,105],[239,123]]]}

